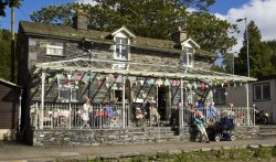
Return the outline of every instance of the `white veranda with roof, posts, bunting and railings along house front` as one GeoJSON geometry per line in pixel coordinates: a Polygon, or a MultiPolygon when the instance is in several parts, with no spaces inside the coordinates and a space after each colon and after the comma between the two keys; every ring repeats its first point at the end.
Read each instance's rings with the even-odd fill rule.
{"type": "MultiPolygon", "coordinates": [[[[145,127],[177,127],[181,131],[181,128],[187,128],[191,118],[190,107],[184,106],[185,102],[211,102],[215,87],[227,89],[242,84],[245,85],[247,106],[235,107],[234,120],[238,126],[254,126],[254,114],[248,106],[247,83],[255,78],[199,68],[87,58],[40,63],[35,66],[34,74],[41,77],[41,94],[32,99],[30,109],[34,132],[121,131],[145,127]],[[57,90],[51,90],[55,89],[53,87],[57,90]],[[53,100],[49,94],[55,94],[59,99],[53,100]],[[88,120],[83,120],[79,115],[83,108],[79,98],[84,95],[91,98],[92,104],[88,120]],[[162,100],[166,100],[164,105],[162,100]],[[137,119],[137,108],[144,109],[147,102],[158,111],[164,109],[159,111],[160,120],[152,116],[146,118],[145,114],[145,118],[137,119]]],[[[225,109],[217,107],[219,116],[225,109]]],[[[150,111],[147,114],[151,115],[150,111]]]]}

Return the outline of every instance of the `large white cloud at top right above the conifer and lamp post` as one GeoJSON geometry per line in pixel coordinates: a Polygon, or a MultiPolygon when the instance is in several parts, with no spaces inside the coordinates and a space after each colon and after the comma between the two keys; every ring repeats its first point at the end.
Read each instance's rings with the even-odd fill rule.
{"type": "Polygon", "coordinates": [[[250,0],[247,3],[240,8],[231,8],[226,14],[214,13],[217,18],[222,20],[227,20],[231,23],[237,24],[241,32],[236,35],[237,45],[235,45],[232,51],[238,52],[242,47],[243,33],[245,31],[245,22],[236,22],[237,19],[247,19],[254,21],[261,31],[262,40],[275,40],[276,39],[276,0],[250,0]]]}

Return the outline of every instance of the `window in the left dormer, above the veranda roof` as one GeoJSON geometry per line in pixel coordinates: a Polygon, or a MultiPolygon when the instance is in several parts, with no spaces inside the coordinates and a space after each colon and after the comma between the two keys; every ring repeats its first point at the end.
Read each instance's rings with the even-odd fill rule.
{"type": "Polygon", "coordinates": [[[115,58],[128,60],[128,39],[116,37],[115,39],[115,58]]]}

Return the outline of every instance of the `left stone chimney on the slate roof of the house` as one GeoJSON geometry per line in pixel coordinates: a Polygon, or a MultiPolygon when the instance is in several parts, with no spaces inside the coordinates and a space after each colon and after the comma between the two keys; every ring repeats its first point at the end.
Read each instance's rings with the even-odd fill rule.
{"type": "Polygon", "coordinates": [[[73,26],[77,30],[87,30],[87,15],[83,10],[78,10],[73,18],[73,26]]]}

